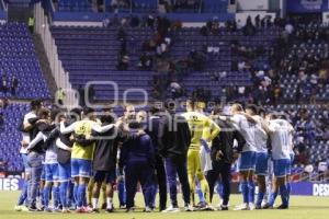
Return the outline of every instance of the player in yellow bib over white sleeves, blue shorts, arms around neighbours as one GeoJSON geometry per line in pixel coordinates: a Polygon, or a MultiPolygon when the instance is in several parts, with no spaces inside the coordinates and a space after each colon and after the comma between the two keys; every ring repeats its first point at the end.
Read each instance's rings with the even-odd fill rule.
{"type": "Polygon", "coordinates": [[[89,107],[83,108],[82,120],[78,120],[68,127],[60,123],[60,132],[76,136],[76,142],[71,153],[71,176],[75,178],[75,197],[78,199],[77,212],[90,212],[92,209],[87,208],[86,188],[91,176],[91,165],[94,142],[89,140],[92,130],[97,132],[104,132],[114,127],[113,124],[107,126],[99,126],[94,122],[93,110],[89,107]],[[86,142],[77,142],[77,137],[86,139],[86,142]],[[84,203],[86,201],[86,203],[84,203]],[[84,205],[84,206],[83,206],[84,205]]]}

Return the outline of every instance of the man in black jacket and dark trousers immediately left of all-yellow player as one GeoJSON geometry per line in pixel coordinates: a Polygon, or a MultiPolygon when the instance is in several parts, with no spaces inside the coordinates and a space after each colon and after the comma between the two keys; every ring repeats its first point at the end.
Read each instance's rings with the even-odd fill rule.
{"type": "MultiPolygon", "coordinates": [[[[158,143],[159,153],[164,158],[171,207],[178,208],[177,175],[179,176],[185,207],[190,207],[190,185],[188,180],[186,157],[191,142],[188,122],[174,114],[174,106],[166,104],[167,112],[160,119],[158,143]]],[[[188,209],[186,209],[188,210],[188,209]]]]}

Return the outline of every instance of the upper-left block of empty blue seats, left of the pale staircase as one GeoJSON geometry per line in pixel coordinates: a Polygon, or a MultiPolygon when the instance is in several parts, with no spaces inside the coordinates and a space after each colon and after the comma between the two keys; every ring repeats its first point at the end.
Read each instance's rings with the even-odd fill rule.
{"type": "Polygon", "coordinates": [[[26,24],[1,24],[0,38],[0,96],[14,95],[19,99],[49,97],[50,94],[43,78],[26,24]],[[15,94],[11,92],[14,77],[19,81],[15,94]]]}

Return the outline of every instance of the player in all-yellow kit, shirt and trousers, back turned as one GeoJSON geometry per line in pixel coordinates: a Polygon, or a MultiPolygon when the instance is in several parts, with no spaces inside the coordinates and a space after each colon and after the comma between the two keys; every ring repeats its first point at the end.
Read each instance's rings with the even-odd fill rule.
{"type": "MultiPolygon", "coordinates": [[[[201,164],[201,146],[204,141],[211,142],[219,134],[220,129],[207,116],[200,113],[202,111],[202,105],[198,102],[189,100],[186,102],[186,111],[188,112],[182,114],[182,116],[186,119],[191,131],[191,145],[188,152],[188,175],[191,186],[191,197],[193,198],[196,186],[195,178],[198,180],[201,189],[204,194],[209,192],[201,164]],[[203,139],[204,131],[206,131],[206,129],[208,129],[208,135],[206,136],[207,139],[203,139]]],[[[195,203],[193,203],[193,205],[195,203]]],[[[207,204],[204,205],[204,208],[207,208],[207,204]]]]}

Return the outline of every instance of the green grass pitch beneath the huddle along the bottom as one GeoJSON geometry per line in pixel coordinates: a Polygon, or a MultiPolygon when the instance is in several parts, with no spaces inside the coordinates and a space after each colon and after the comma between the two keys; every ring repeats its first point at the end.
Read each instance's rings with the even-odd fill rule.
{"type": "MultiPolygon", "coordinates": [[[[253,211],[203,211],[203,212],[179,212],[179,214],[161,214],[161,212],[141,212],[141,208],[133,214],[126,214],[117,210],[114,214],[99,215],[77,215],[75,212],[63,214],[45,214],[45,212],[16,212],[13,210],[18,199],[19,192],[0,192],[0,219],[328,219],[329,218],[329,197],[291,197],[291,208],[288,210],[253,210],[253,211]]],[[[116,194],[115,194],[115,197],[116,194]]],[[[180,198],[181,199],[181,198],[180,198]]],[[[241,196],[232,195],[230,206],[240,204],[241,196]]],[[[117,199],[114,199],[117,204],[117,199]]],[[[277,201],[280,197],[277,197],[277,201]]],[[[218,203],[215,200],[214,203],[218,203]]],[[[138,194],[136,199],[137,206],[143,207],[143,198],[138,194]]]]}

